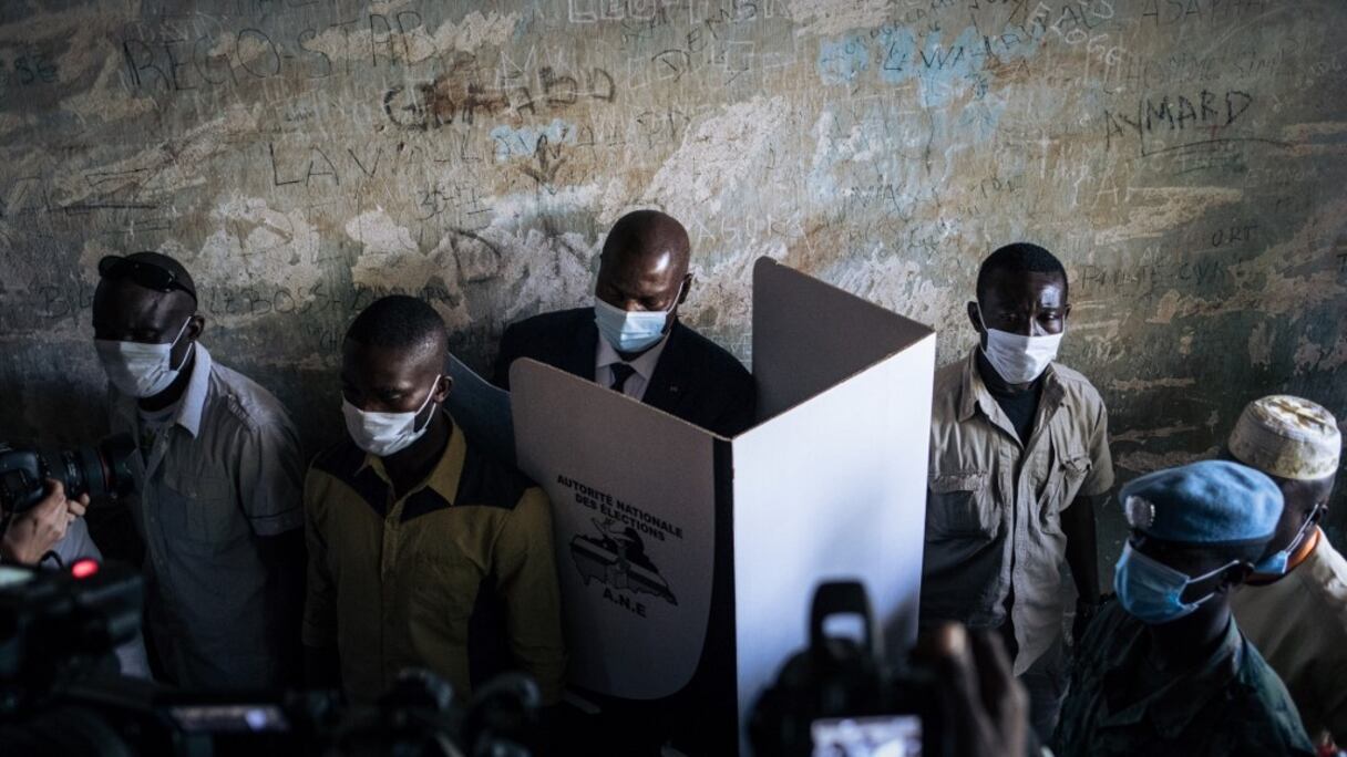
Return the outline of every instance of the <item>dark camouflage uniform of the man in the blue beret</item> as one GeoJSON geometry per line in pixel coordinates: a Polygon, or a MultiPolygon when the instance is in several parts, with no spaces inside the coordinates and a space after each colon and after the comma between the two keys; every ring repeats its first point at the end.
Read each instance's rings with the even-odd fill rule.
{"type": "Polygon", "coordinates": [[[1053,738],[1057,757],[1315,753],[1286,687],[1233,618],[1220,647],[1193,660],[1187,675],[1122,702],[1138,688],[1149,649],[1146,625],[1118,602],[1099,612],[1076,647],[1053,738]]]}

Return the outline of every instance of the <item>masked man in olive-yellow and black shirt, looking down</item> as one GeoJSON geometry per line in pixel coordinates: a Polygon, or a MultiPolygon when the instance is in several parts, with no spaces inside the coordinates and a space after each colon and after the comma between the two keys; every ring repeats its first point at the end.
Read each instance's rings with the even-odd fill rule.
{"type": "Polygon", "coordinates": [[[304,481],[310,683],[368,702],[423,667],[467,696],[519,669],[554,703],[566,655],[550,504],[440,408],[446,356],[443,322],[415,298],[374,302],[346,333],[348,439],[304,481]]]}

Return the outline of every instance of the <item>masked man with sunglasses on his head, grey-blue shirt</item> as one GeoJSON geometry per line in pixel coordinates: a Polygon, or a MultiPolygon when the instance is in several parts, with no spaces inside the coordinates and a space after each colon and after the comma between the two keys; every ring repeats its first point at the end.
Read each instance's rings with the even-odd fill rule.
{"type": "Polygon", "coordinates": [[[98,275],[112,428],[137,440],[129,504],[156,673],[187,688],[286,686],[299,673],[304,575],[295,427],[198,342],[205,318],[182,264],[137,252],[102,259],[98,275]]]}

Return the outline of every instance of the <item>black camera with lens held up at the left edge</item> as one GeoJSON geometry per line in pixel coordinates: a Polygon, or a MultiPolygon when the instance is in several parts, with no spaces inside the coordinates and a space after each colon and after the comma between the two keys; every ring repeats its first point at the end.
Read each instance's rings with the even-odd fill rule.
{"type": "Polygon", "coordinates": [[[0,512],[22,513],[40,502],[47,478],[59,481],[70,498],[127,494],[133,486],[128,463],[135,450],[128,434],[73,450],[0,442],[0,512]]]}

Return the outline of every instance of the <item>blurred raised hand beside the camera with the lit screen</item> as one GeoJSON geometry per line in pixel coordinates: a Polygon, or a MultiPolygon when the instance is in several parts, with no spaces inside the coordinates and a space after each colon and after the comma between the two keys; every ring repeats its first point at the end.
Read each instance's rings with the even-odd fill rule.
{"type": "Polygon", "coordinates": [[[1029,696],[1016,680],[1001,638],[946,624],[924,640],[942,673],[946,730],[958,757],[1025,757],[1029,696]]]}

